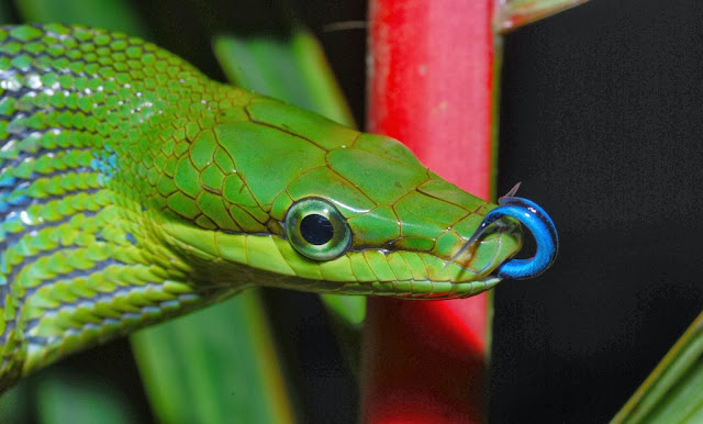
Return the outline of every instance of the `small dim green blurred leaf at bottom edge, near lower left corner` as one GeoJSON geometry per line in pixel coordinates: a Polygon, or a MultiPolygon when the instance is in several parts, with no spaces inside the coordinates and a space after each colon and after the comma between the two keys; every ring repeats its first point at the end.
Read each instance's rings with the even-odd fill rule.
{"type": "Polygon", "coordinates": [[[126,398],[87,376],[47,372],[37,381],[37,412],[44,424],[135,423],[126,398]]]}

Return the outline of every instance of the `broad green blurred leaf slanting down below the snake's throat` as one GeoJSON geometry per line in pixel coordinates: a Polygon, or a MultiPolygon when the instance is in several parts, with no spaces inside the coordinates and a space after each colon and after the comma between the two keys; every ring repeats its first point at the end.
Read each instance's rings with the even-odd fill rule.
{"type": "Polygon", "coordinates": [[[293,422],[263,311],[258,292],[250,290],[132,336],[163,422],[293,422]]]}

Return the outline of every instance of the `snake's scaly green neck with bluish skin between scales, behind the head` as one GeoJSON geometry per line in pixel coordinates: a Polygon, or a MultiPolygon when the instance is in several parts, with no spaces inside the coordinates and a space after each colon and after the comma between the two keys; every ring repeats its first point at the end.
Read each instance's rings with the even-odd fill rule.
{"type": "Polygon", "coordinates": [[[237,290],[159,228],[183,220],[165,212],[186,202],[169,196],[174,157],[248,98],[138,38],[62,25],[0,35],[2,389],[237,290]]]}

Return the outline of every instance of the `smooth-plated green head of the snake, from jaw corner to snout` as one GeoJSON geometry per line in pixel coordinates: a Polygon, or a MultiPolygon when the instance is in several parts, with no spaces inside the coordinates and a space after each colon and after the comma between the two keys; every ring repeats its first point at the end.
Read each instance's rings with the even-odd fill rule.
{"type": "MultiPolygon", "coordinates": [[[[227,274],[237,280],[449,299],[535,275],[553,259],[531,263],[528,272],[503,269],[516,265],[511,258],[522,247],[524,220],[512,213],[520,208],[506,213],[460,190],[395,140],[271,99],[255,97],[243,109],[205,132],[212,164],[200,171],[202,192],[194,197],[203,213],[194,222],[208,235],[171,231],[233,265],[227,274]],[[217,178],[208,167],[217,168],[217,178]]],[[[185,167],[198,163],[200,142],[180,159],[185,167]]]]}

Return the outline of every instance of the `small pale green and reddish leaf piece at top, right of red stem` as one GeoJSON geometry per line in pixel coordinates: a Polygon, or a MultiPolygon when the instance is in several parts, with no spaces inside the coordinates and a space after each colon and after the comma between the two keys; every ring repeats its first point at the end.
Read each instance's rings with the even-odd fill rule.
{"type": "Polygon", "coordinates": [[[506,0],[500,5],[499,29],[501,32],[512,31],[587,1],[588,0],[506,0]]]}

